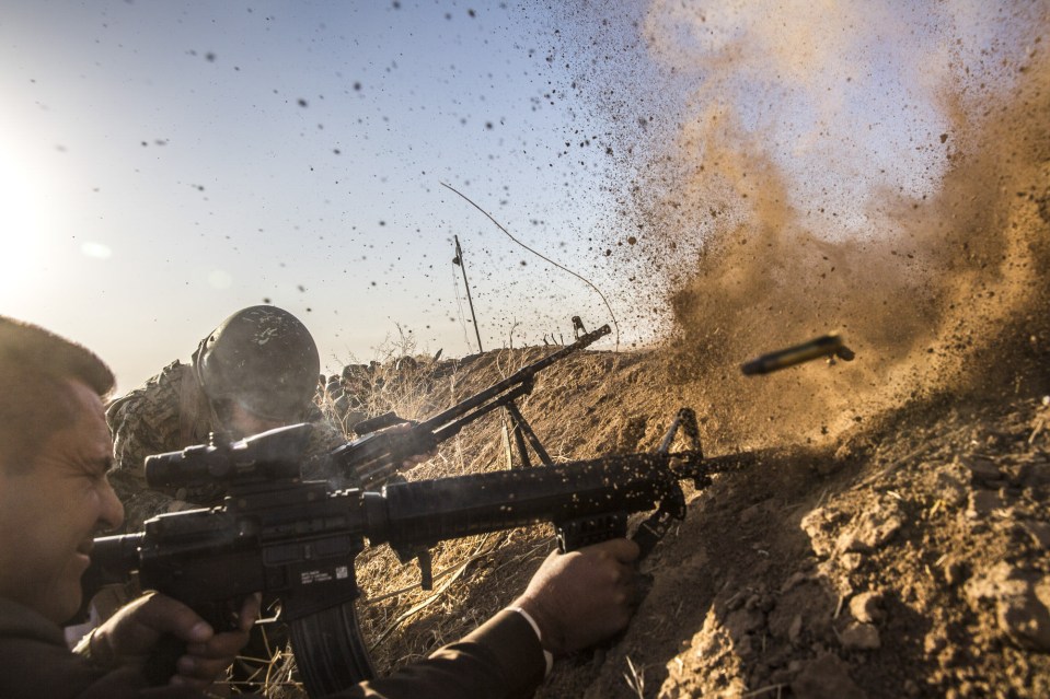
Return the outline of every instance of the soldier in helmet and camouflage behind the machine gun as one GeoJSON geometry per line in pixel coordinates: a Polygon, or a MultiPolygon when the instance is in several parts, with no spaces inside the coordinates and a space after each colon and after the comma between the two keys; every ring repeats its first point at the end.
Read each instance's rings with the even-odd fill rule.
{"type": "MultiPolygon", "coordinates": [[[[146,484],[145,459],[212,439],[236,440],[297,422],[312,422],[308,455],[345,442],[339,428],[324,420],[314,403],[321,360],[307,327],[276,306],[238,311],[208,334],[189,363],[178,360],[146,385],[111,403],[106,421],[114,440],[111,481],[129,532],[163,512],[212,504],[221,493],[207,486],[177,498],[146,484]]],[[[308,466],[309,467],[309,466],[308,466]]],[[[341,474],[334,487],[353,485],[341,474]]]]}

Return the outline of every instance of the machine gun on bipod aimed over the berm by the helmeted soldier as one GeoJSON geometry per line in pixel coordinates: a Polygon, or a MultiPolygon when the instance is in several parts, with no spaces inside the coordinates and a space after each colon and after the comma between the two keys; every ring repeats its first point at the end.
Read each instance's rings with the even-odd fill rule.
{"type": "MultiPolygon", "coordinates": [[[[582,324],[574,317],[578,328],[582,324]]],[[[393,476],[405,459],[419,454],[431,452],[440,442],[458,434],[466,424],[487,412],[503,407],[510,416],[514,439],[521,461],[529,466],[529,455],[526,448],[526,439],[529,445],[544,464],[551,463],[551,457],[543,450],[529,422],[522,417],[515,403],[521,396],[532,393],[535,375],[554,362],[565,359],[573,352],[579,351],[600,338],[609,335],[611,329],[603,325],[597,330],[579,335],[575,342],[547,354],[543,359],[522,366],[514,374],[504,378],[489,388],[475,394],[465,400],[438,415],[412,426],[404,432],[373,432],[358,440],[347,442],[324,457],[322,473],[353,473],[362,488],[381,486],[393,476]]],[[[392,413],[372,418],[366,422],[372,428],[390,424],[392,413]]],[[[362,431],[360,426],[357,430],[362,431]]]]}

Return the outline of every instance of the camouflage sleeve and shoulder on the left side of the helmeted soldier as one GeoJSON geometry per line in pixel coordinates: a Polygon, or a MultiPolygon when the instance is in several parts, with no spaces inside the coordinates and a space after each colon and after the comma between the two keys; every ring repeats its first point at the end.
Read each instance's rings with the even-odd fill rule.
{"type": "Polygon", "coordinates": [[[109,481],[124,503],[127,532],[141,529],[142,523],[157,514],[189,506],[146,485],[146,457],[184,446],[178,443],[178,386],[187,370],[173,362],[145,386],[106,407],[114,457],[109,481]]]}

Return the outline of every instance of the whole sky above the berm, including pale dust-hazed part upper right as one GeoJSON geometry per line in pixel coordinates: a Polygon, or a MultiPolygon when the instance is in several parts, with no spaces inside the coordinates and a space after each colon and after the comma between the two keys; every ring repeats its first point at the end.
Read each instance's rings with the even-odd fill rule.
{"type": "Polygon", "coordinates": [[[458,237],[483,349],[568,339],[574,315],[614,325],[596,349],[644,345],[712,232],[754,220],[759,167],[829,240],[936,196],[1048,12],[8,0],[0,313],[94,349],[119,392],[259,303],[328,373],[462,357],[458,237]]]}

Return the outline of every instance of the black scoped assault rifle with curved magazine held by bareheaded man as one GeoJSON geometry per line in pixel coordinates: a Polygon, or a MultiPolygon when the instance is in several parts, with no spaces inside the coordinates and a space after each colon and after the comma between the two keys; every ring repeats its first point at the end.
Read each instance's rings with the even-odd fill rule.
{"type": "MultiPolygon", "coordinates": [[[[142,590],[183,601],[216,628],[228,628],[244,595],[276,597],[303,685],[323,697],[372,676],[354,607],[354,559],[366,540],[417,554],[447,539],[550,522],[559,549],[569,551],[624,536],[628,515],[649,512],[633,534],[645,554],[685,516],[679,481],[703,488],[712,474],[754,461],[748,453],[704,458],[695,416],[683,408],[653,453],[396,482],[379,492],[330,491],[324,481],[299,478],[310,429],[296,424],[147,458],[151,485],[207,478],[226,484],[226,500],[159,515],[138,534],[95,539],[89,593],[136,572],[142,590]],[[672,453],[679,429],[689,448],[672,453]]],[[[428,557],[419,563],[426,585],[428,557]]],[[[178,654],[169,650],[154,676],[171,676],[178,654]]]]}

